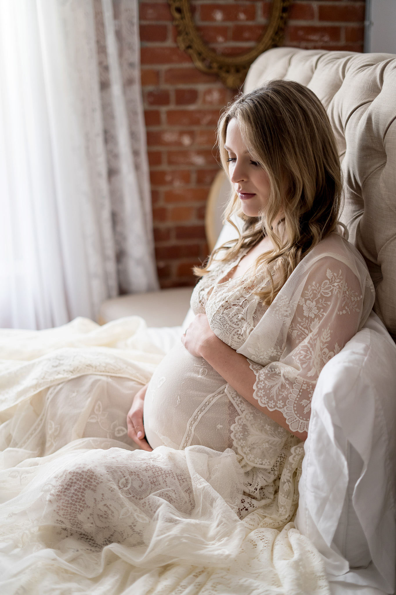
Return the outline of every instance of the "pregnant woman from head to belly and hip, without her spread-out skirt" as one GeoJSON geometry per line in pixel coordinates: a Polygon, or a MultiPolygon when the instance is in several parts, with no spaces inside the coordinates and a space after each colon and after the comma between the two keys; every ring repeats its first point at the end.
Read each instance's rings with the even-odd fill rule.
{"type": "Polygon", "coordinates": [[[237,99],[218,147],[235,191],[226,218],[242,217],[243,233],[197,269],[195,319],[135,396],[128,433],[145,450],[233,449],[239,516],[257,509],[280,527],[296,509],[316,380],[366,321],[373,288],[340,234],[337,148],[311,91],[278,81],[237,99]]]}

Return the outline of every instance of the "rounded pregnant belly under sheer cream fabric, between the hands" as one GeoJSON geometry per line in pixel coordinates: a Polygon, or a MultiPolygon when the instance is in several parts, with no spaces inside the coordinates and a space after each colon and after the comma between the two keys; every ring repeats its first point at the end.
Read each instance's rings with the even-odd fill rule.
{"type": "Polygon", "coordinates": [[[152,448],[184,449],[202,444],[223,452],[232,447],[237,411],[226,382],[203,358],[173,347],[161,361],[144,398],[144,430],[152,448]]]}

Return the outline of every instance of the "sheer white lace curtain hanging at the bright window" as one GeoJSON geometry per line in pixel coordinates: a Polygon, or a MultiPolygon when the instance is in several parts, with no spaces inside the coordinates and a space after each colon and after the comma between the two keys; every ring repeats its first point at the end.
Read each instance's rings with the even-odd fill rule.
{"type": "Polygon", "coordinates": [[[137,19],[136,1],[0,0],[0,327],[157,288],[137,19]]]}

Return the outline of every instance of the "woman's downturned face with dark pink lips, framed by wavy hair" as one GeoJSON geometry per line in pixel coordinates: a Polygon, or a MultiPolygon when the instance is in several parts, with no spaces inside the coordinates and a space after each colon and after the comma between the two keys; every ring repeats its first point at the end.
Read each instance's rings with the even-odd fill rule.
{"type": "Polygon", "coordinates": [[[270,180],[256,161],[252,161],[235,118],[227,126],[224,148],[228,151],[230,179],[242,203],[242,211],[249,217],[257,217],[268,205],[270,180]]]}

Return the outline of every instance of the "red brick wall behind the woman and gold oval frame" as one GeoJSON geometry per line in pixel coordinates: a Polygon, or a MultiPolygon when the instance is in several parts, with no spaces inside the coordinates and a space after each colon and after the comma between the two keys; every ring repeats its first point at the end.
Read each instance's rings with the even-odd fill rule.
{"type": "MultiPolygon", "coordinates": [[[[270,2],[195,0],[201,35],[217,51],[246,51],[267,23],[270,2]]],[[[294,0],[284,45],[363,51],[365,2],[294,0]]],[[[191,267],[207,256],[204,213],[218,165],[218,115],[232,99],[216,76],[179,50],[164,0],[140,0],[142,87],[161,286],[195,283],[191,267]]]]}

